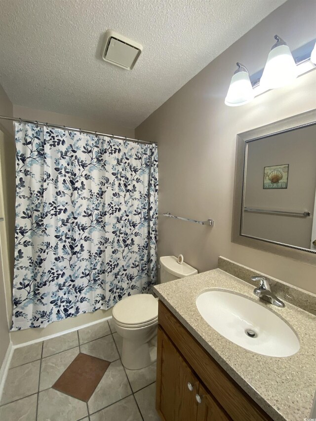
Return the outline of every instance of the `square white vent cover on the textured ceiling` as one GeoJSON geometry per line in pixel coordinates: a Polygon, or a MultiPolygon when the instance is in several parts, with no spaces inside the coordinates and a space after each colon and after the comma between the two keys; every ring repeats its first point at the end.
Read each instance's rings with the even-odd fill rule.
{"type": "Polygon", "coordinates": [[[143,46],[138,42],[108,30],[105,33],[102,58],[123,69],[131,70],[142,50],[143,46]]]}

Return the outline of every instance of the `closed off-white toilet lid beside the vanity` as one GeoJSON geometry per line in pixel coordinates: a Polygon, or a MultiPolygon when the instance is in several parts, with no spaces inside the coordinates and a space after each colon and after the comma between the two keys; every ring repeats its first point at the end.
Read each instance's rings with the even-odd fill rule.
{"type": "Polygon", "coordinates": [[[131,295],[113,307],[113,317],[125,325],[142,324],[157,316],[158,300],[151,294],[131,295]]]}

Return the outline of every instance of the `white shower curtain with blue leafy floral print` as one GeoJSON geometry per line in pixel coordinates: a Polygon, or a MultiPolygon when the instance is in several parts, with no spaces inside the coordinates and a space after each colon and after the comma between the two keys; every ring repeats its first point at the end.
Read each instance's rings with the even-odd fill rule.
{"type": "Polygon", "coordinates": [[[156,283],[157,145],[15,123],[12,330],[156,283]]]}

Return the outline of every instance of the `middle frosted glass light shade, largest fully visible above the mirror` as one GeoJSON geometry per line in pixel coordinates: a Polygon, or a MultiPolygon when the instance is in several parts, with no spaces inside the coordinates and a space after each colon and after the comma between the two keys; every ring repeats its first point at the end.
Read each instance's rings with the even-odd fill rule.
{"type": "Polygon", "coordinates": [[[260,85],[265,89],[280,88],[292,83],[297,75],[297,67],[289,47],[278,45],[268,55],[260,85]]]}

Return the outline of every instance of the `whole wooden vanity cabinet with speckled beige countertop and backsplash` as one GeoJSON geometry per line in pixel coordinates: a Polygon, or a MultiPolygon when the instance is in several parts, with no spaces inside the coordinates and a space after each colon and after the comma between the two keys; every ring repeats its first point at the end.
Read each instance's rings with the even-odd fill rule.
{"type": "MultiPolygon", "coordinates": [[[[218,269],[154,287],[159,298],[156,408],[161,420],[310,418],[316,389],[316,296],[295,287],[289,291],[284,284],[281,298],[296,306],[285,300],[285,307],[277,307],[259,301],[253,293],[257,285],[223,270],[227,268],[238,276],[251,273],[249,268],[220,258],[218,269]],[[272,312],[285,323],[284,331],[286,327],[293,332],[297,343],[290,338],[285,356],[272,356],[283,347],[282,333],[276,337],[280,342],[272,347],[272,355],[259,353],[262,344],[256,352],[228,340],[197,309],[197,297],[205,291],[229,292],[272,312]]],[[[281,291],[282,285],[276,290],[281,291]]],[[[219,307],[219,319],[221,315],[226,317],[219,307]]],[[[267,326],[260,330],[258,322],[256,330],[260,339],[267,326]]],[[[263,340],[267,341],[269,338],[263,340]]]]}

